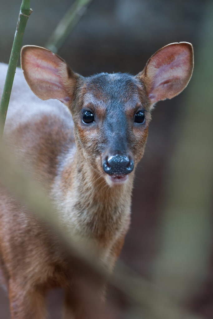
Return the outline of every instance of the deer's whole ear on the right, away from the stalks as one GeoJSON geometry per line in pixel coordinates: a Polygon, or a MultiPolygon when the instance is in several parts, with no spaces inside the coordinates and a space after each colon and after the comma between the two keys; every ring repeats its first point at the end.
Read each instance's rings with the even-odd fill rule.
{"type": "Polygon", "coordinates": [[[158,50],[136,77],[146,87],[151,103],[171,99],[188,84],[193,71],[191,43],[171,43],[158,50]]]}

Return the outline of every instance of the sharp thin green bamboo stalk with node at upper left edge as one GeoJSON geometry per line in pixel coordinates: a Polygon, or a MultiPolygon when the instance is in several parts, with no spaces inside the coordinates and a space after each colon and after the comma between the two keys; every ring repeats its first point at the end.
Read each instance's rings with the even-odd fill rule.
{"type": "Polygon", "coordinates": [[[30,0],[23,0],[20,7],[19,19],[16,26],[16,32],[14,36],[10,61],[9,61],[8,69],[7,69],[7,75],[6,75],[4,90],[2,94],[2,100],[0,104],[0,138],[2,137],[3,131],[4,131],[4,124],[6,120],[13,79],[14,79],[16,66],[19,59],[19,53],[21,50],[22,38],[24,35],[27,20],[31,12],[32,12],[32,9],[30,9],[30,0]]]}

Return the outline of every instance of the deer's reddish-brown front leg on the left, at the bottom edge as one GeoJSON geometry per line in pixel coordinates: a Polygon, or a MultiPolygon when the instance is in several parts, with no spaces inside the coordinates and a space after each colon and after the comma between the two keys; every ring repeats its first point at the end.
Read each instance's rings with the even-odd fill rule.
{"type": "Polygon", "coordinates": [[[11,319],[45,319],[44,293],[36,289],[30,291],[20,286],[16,280],[9,281],[11,319]]]}

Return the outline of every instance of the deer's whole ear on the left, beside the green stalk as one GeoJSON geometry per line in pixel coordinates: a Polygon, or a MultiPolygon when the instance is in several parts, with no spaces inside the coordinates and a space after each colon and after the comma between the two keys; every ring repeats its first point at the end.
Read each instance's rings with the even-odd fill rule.
{"type": "Polygon", "coordinates": [[[21,49],[21,68],[31,90],[42,100],[58,99],[69,104],[77,76],[51,51],[26,45],[21,49]]]}

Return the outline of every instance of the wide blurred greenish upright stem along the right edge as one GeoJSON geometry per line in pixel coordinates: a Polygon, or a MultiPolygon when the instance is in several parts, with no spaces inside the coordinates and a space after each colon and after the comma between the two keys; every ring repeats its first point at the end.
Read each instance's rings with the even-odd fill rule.
{"type": "Polygon", "coordinates": [[[194,74],[179,112],[178,143],[161,203],[162,243],[154,277],[179,301],[203,283],[212,249],[212,16],[213,3],[207,2],[200,33],[204,37],[195,51],[194,74]]]}

